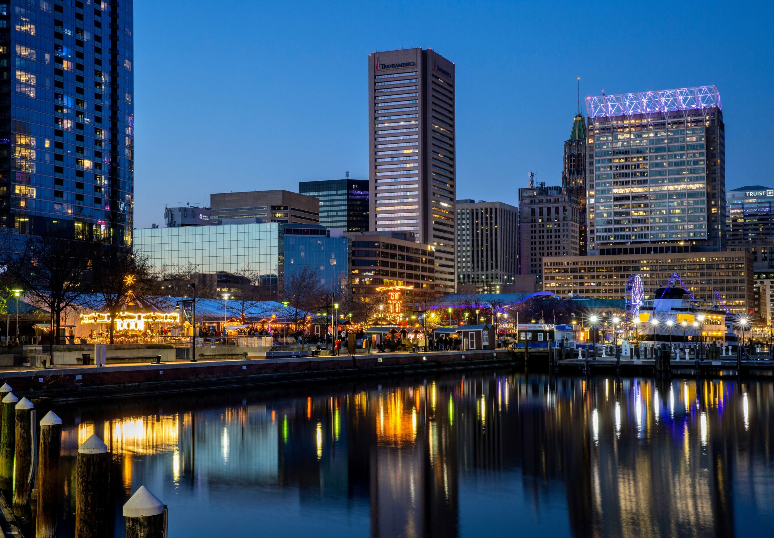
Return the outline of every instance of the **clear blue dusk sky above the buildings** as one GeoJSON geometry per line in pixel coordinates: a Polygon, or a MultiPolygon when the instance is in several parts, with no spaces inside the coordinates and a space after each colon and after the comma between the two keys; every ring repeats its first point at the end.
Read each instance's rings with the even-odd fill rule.
{"type": "Polygon", "coordinates": [[[774,186],[772,6],[135,0],[135,226],[214,192],[368,179],[368,53],[413,46],[456,64],[457,198],[560,184],[577,77],[581,100],[716,85],[727,188],[774,186]]]}

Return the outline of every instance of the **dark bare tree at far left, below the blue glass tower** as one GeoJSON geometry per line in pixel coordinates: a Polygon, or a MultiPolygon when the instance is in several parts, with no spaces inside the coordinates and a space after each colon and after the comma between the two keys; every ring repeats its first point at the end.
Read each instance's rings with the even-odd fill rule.
{"type": "Polygon", "coordinates": [[[36,303],[45,305],[53,345],[59,344],[62,311],[76,307],[91,288],[91,243],[56,235],[21,238],[19,248],[5,253],[4,265],[36,303]]]}

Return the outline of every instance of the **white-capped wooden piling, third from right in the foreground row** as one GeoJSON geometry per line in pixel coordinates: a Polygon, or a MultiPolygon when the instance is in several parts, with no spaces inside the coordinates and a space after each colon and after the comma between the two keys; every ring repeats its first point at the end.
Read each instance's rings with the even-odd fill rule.
{"type": "Polygon", "coordinates": [[[57,536],[61,450],[62,420],[53,411],[49,411],[40,421],[35,538],[57,536]]]}

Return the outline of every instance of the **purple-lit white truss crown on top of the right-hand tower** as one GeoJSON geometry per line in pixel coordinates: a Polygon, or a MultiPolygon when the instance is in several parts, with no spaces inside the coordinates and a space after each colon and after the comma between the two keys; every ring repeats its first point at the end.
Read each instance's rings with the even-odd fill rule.
{"type": "Polygon", "coordinates": [[[723,108],[715,86],[682,87],[678,90],[645,91],[637,94],[599,95],[586,98],[589,118],[610,118],[676,110],[723,108]]]}

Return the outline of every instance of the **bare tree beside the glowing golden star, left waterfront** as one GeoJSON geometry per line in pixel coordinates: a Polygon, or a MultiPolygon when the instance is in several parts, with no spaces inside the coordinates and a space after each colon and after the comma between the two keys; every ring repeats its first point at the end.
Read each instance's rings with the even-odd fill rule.
{"type": "Polygon", "coordinates": [[[114,343],[116,316],[125,305],[156,295],[158,286],[146,255],[108,245],[95,245],[91,262],[92,290],[110,314],[110,343],[114,343]]]}

